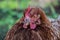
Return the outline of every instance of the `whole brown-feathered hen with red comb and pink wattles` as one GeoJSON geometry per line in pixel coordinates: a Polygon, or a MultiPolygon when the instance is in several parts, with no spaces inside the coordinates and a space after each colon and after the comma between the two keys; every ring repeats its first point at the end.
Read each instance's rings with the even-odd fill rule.
{"type": "Polygon", "coordinates": [[[27,8],[24,16],[8,31],[5,40],[60,40],[40,8],[27,8]],[[37,22],[36,22],[37,21],[37,22]]]}

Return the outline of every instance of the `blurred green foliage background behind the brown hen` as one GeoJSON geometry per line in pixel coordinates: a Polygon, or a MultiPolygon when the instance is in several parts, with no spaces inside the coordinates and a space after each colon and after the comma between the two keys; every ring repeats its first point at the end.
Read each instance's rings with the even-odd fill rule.
{"type": "MultiPolygon", "coordinates": [[[[0,40],[4,40],[8,30],[23,16],[29,3],[33,4],[31,0],[0,0],[0,40]]],[[[50,18],[60,15],[60,0],[42,0],[39,5],[50,18]]]]}

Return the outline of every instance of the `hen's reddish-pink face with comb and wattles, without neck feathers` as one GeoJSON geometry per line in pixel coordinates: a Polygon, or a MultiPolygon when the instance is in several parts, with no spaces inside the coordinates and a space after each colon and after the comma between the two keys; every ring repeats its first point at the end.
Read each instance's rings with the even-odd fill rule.
{"type": "Polygon", "coordinates": [[[30,25],[31,29],[35,29],[40,23],[40,14],[38,14],[38,10],[35,8],[28,9],[25,14],[23,27],[27,28],[27,26],[30,25]]]}

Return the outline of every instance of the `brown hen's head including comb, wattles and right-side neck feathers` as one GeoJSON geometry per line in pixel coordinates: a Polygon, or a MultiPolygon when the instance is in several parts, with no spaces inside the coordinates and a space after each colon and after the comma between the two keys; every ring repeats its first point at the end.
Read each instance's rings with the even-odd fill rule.
{"type": "Polygon", "coordinates": [[[24,12],[24,24],[23,28],[27,28],[30,25],[30,29],[35,29],[40,24],[50,25],[45,13],[39,8],[27,8],[24,12]]]}

